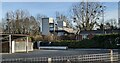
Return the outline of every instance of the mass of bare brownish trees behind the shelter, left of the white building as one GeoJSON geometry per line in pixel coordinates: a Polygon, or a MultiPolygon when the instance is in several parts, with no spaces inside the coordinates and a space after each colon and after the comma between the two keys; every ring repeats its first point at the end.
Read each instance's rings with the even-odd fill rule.
{"type": "Polygon", "coordinates": [[[41,37],[41,20],[44,15],[32,16],[26,10],[8,11],[0,24],[3,33],[28,34],[33,40],[41,37]]]}

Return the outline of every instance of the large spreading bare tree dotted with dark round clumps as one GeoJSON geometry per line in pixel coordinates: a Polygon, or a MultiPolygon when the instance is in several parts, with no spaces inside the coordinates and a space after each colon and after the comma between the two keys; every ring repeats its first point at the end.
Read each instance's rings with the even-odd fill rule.
{"type": "Polygon", "coordinates": [[[104,17],[104,8],[105,6],[99,2],[81,2],[73,5],[71,12],[79,32],[92,30],[95,24],[104,17]]]}

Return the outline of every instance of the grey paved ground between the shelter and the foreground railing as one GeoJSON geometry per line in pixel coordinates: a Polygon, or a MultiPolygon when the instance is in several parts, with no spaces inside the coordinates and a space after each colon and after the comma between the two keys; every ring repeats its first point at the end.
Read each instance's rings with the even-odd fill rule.
{"type": "MultiPolygon", "coordinates": [[[[117,52],[118,50],[113,50],[117,52]]],[[[68,49],[68,50],[34,50],[29,53],[2,54],[3,59],[12,58],[33,58],[33,57],[53,57],[53,56],[70,56],[81,54],[100,54],[109,53],[108,49],[68,49]]]]}

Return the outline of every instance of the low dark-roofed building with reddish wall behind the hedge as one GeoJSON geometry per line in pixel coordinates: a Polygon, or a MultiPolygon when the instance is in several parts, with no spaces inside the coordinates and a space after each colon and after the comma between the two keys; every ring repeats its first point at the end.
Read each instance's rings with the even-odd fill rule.
{"type": "Polygon", "coordinates": [[[80,32],[80,40],[82,39],[91,39],[95,35],[103,35],[103,34],[118,34],[120,33],[119,29],[116,30],[87,30],[87,31],[81,31],[80,32]]]}

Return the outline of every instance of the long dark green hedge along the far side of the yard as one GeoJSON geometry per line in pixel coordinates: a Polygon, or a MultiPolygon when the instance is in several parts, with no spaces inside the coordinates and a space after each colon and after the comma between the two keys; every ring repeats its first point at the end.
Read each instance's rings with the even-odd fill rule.
{"type": "Polygon", "coordinates": [[[61,40],[52,42],[51,46],[68,46],[69,48],[118,48],[120,34],[96,35],[93,39],[82,41],[61,40]]]}

